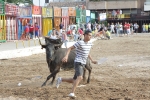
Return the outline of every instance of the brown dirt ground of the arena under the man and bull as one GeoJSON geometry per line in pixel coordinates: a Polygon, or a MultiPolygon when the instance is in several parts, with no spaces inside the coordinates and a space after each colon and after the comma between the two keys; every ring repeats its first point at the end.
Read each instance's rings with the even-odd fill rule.
{"type": "MultiPolygon", "coordinates": [[[[91,83],[78,87],[73,100],[150,100],[150,34],[97,40],[91,55],[107,61],[92,64],[91,83]]],[[[45,58],[38,54],[0,60],[0,100],[72,100],[67,97],[72,84],[41,87],[49,75],[45,58]]],[[[57,77],[73,74],[61,71],[57,77]]]]}

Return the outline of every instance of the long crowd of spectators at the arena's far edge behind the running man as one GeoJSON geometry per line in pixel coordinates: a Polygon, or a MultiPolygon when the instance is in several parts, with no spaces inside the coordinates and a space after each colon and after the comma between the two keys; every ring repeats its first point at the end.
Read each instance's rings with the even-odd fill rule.
{"type": "Polygon", "coordinates": [[[78,41],[83,40],[84,31],[90,30],[92,33],[92,38],[98,39],[112,39],[112,34],[115,34],[116,37],[122,36],[129,36],[133,35],[134,33],[138,33],[139,25],[137,23],[129,23],[122,22],[118,23],[107,23],[105,24],[98,24],[98,23],[86,23],[86,24],[71,24],[68,25],[67,28],[64,28],[64,25],[61,23],[59,25],[60,30],[53,29],[49,33],[49,37],[51,39],[58,39],[61,38],[62,41],[65,43],[67,48],[68,41],[78,41]]]}

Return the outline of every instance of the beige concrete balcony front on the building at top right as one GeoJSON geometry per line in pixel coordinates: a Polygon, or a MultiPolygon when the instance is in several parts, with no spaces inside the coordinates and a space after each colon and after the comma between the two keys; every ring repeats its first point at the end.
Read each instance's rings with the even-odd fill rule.
{"type": "Polygon", "coordinates": [[[87,0],[87,9],[130,9],[138,8],[137,0],[87,0]]]}

